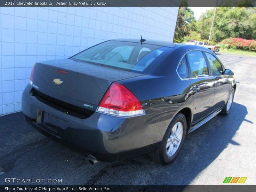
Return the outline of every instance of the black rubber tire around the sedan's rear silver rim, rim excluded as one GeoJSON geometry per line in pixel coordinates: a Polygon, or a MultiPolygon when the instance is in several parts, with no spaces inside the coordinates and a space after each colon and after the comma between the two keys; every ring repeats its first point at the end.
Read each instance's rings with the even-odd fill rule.
{"type": "Polygon", "coordinates": [[[167,130],[164,134],[164,138],[161,141],[160,146],[156,150],[150,152],[149,157],[152,160],[159,163],[159,164],[165,165],[165,164],[171,163],[178,156],[178,154],[180,152],[180,149],[181,149],[181,147],[184,143],[184,140],[185,140],[186,132],[187,132],[186,117],[182,113],[178,113],[172,119],[172,122],[169,124],[169,126],[168,126],[168,128],[167,128],[167,130]],[[176,152],[172,156],[167,156],[167,153],[166,153],[167,140],[168,140],[169,136],[171,135],[171,131],[172,131],[173,126],[178,122],[182,123],[182,126],[183,126],[183,133],[182,133],[181,142],[180,142],[180,145],[179,145],[178,149],[176,150],[176,152]]]}

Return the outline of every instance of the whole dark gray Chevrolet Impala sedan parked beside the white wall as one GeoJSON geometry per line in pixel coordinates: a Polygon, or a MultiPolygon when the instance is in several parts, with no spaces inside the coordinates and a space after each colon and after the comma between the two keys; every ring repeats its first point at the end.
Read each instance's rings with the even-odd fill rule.
{"type": "Polygon", "coordinates": [[[172,162],[187,133],[230,112],[236,82],[209,49],[115,39],[37,62],[22,95],[26,120],[94,161],[144,153],[172,162]]]}

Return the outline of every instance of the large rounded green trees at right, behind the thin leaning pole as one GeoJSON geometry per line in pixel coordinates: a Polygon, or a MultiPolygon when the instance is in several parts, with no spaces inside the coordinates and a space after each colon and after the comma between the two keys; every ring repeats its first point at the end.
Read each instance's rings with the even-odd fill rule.
{"type": "MultiPolygon", "coordinates": [[[[209,38],[214,9],[203,13],[196,23],[202,39],[209,38]]],[[[255,19],[256,8],[253,7],[217,7],[211,40],[220,42],[229,37],[255,39],[255,19]]]]}

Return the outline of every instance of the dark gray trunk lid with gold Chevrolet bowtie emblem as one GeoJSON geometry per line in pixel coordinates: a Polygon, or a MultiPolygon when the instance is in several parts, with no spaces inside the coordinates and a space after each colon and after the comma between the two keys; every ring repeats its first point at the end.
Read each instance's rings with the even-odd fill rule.
{"type": "Polygon", "coordinates": [[[33,87],[41,95],[90,113],[112,82],[141,75],[71,59],[52,60],[36,63],[33,87]]]}

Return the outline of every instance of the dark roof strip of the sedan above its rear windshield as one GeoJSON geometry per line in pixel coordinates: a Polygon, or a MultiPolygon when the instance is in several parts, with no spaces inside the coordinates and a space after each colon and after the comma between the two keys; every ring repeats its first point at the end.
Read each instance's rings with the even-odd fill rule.
{"type": "MultiPolygon", "coordinates": [[[[125,41],[125,42],[135,42],[140,43],[140,38],[138,39],[111,39],[109,41],[125,41]]],[[[146,39],[142,44],[153,44],[153,45],[159,45],[164,47],[174,47],[176,44],[174,44],[172,41],[160,41],[160,40],[152,40],[152,39],[146,39]]]]}

